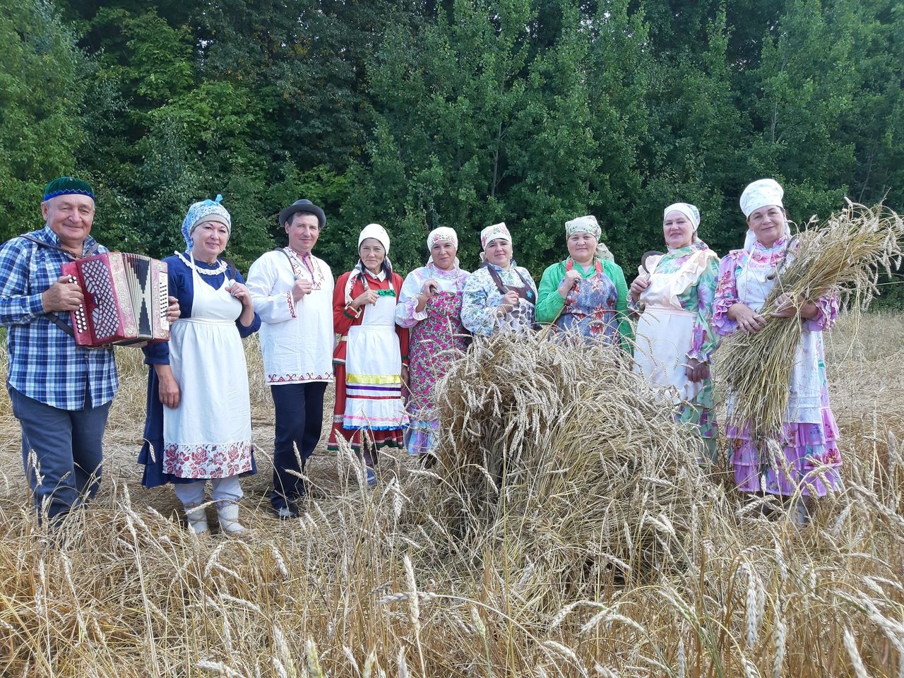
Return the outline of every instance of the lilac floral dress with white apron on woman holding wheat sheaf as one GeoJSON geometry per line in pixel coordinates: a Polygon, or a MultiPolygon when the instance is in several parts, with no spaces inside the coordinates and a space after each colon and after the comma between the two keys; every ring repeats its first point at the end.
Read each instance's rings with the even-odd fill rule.
{"type": "MultiPolygon", "coordinates": [[[[758,311],[775,285],[772,277],[787,256],[788,239],[777,240],[772,247],[755,242],[750,250],[733,250],[722,259],[719,283],[713,301],[713,326],[727,336],[738,331],[728,311],[742,303],[758,311]]],[[[831,327],[838,315],[837,297],[815,300],[817,315],[806,320],[792,372],[790,401],[778,443],[784,453],[782,468],[776,468],[767,455],[762,440],[755,440],[749,424],[738,426],[726,422],[730,441],[731,463],[735,482],[742,492],[823,496],[835,490],[841,480],[842,457],[838,451],[838,425],[829,406],[828,382],[825,378],[823,330],[831,327]],[[789,471],[789,472],[786,472],[789,471]]]]}

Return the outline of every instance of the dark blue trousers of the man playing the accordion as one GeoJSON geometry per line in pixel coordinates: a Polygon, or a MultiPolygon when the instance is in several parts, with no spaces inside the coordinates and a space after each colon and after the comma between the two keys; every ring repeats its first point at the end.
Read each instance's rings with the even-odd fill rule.
{"type": "Polygon", "coordinates": [[[101,442],[110,403],[59,410],[9,388],[13,414],[22,427],[22,464],[32,500],[52,523],[94,497],[100,485],[101,442]]]}

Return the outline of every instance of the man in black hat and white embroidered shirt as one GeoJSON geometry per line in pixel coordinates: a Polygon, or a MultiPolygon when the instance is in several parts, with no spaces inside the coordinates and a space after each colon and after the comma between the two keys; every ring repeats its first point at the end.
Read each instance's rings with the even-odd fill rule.
{"type": "Polygon", "coordinates": [[[276,412],[273,492],[280,518],[297,516],[305,495],[300,475],[320,440],[324,392],[333,381],[333,272],[311,250],[324,211],[297,200],[279,212],[287,247],[251,264],[248,288],[260,315],[260,351],[276,412]]]}

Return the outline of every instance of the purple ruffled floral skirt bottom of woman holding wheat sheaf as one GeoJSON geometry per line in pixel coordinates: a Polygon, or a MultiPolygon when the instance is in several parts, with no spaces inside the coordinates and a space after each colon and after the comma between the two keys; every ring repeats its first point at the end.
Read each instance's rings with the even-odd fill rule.
{"type": "MultiPolygon", "coordinates": [[[[778,441],[781,453],[771,458],[765,443],[757,444],[749,427],[728,425],[731,464],[741,492],[824,496],[841,482],[842,457],[838,450],[838,425],[832,410],[823,410],[823,421],[786,423],[778,441]]],[[[776,450],[777,451],[777,450],[776,450]]]]}

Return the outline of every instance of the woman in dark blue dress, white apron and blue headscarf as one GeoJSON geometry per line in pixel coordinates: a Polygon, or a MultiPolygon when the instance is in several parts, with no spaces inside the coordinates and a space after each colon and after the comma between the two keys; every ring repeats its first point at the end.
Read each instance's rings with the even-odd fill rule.
{"type": "Polygon", "coordinates": [[[182,315],[169,342],[144,349],[151,369],[142,485],[172,483],[195,534],[209,531],[202,506],[208,480],[221,532],[244,532],[239,476],[257,471],[241,339],[260,319],[241,274],[220,258],[232,228],[220,200],[195,202],[185,215],[187,250],[165,259],[182,315]]]}

